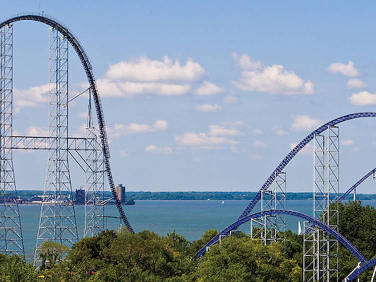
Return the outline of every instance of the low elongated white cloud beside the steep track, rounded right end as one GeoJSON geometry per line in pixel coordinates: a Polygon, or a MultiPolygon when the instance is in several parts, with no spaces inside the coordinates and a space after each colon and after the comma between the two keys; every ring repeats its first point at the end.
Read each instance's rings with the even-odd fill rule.
{"type": "Polygon", "coordinates": [[[167,121],[165,120],[156,120],[153,125],[143,124],[143,123],[129,123],[119,124],[116,123],[112,128],[107,128],[108,134],[113,137],[120,137],[127,134],[133,133],[146,133],[146,132],[155,132],[158,130],[167,129],[167,121]]]}

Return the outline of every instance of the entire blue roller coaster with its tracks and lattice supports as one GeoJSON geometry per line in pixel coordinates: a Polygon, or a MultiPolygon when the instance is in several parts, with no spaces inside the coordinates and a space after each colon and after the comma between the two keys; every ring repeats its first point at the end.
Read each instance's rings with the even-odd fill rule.
{"type": "MultiPolygon", "coordinates": [[[[68,156],[72,156],[79,163],[86,176],[85,186],[88,193],[85,198],[84,235],[93,236],[104,230],[103,218],[106,215],[104,201],[100,200],[104,191],[104,175],[107,177],[119,218],[127,229],[133,232],[116,195],[101,100],[91,63],[78,38],[65,25],[51,17],[44,14],[23,14],[0,23],[0,51],[0,193],[4,195],[4,200],[2,199],[0,204],[0,252],[25,255],[19,207],[16,201],[10,201],[10,196],[17,198],[12,154],[16,149],[47,150],[49,152],[34,256],[35,263],[38,262],[38,248],[43,241],[53,240],[69,245],[78,240],[68,156]],[[34,21],[50,27],[48,136],[13,134],[13,24],[20,21],[34,21]],[[79,57],[89,83],[88,89],[82,91],[82,93],[89,92],[88,124],[85,137],[68,136],[68,106],[70,102],[68,99],[68,43],[79,57]],[[97,125],[93,125],[92,122],[91,97],[94,99],[97,125]],[[78,158],[74,157],[75,154],[78,158]],[[80,163],[80,159],[83,162],[80,163]],[[67,193],[71,196],[67,197],[67,193]]],[[[338,232],[338,210],[335,209],[335,203],[346,198],[359,184],[376,172],[376,168],[371,170],[339,196],[338,127],[336,125],[350,119],[363,117],[376,117],[376,112],[344,115],[323,124],[308,134],[280,162],[238,219],[207,242],[197,253],[197,258],[209,251],[213,244],[220,242],[221,237],[230,236],[232,231],[237,230],[246,222],[260,224],[261,230],[264,232],[261,236],[264,236],[265,242],[267,237],[268,240],[276,241],[276,233],[274,232],[273,235],[273,233],[267,232],[269,232],[268,230],[276,231],[278,220],[282,220],[281,226],[285,225],[282,216],[289,215],[302,218],[307,223],[307,228],[304,231],[304,280],[338,280],[338,242],[344,245],[359,261],[359,265],[357,267],[354,265],[354,270],[346,277],[347,280],[356,278],[360,273],[374,266],[376,257],[367,261],[351,242],[338,232]],[[328,132],[326,136],[323,135],[324,131],[328,132]],[[317,191],[314,191],[313,217],[287,210],[283,206],[285,179],[280,178],[287,164],[312,140],[317,145],[314,147],[316,160],[314,171],[317,176],[314,179],[314,186],[317,191]],[[324,140],[326,141],[324,142],[324,140]],[[325,177],[323,177],[324,175],[325,177]],[[333,177],[333,180],[330,177],[333,177]],[[277,181],[283,185],[277,185],[277,181]],[[271,189],[273,183],[275,184],[274,190],[271,189]],[[277,186],[282,188],[277,191],[277,186]],[[334,198],[330,198],[331,191],[335,192],[334,198]],[[277,199],[281,195],[282,198],[279,198],[278,201],[277,199]],[[259,201],[262,203],[262,210],[250,215],[259,201]],[[329,202],[334,203],[334,208],[329,208],[329,202]],[[313,239],[310,239],[310,236],[313,236],[313,239]],[[321,257],[324,257],[324,260],[321,261],[321,257]]],[[[280,230],[285,230],[283,228],[280,230]]]]}

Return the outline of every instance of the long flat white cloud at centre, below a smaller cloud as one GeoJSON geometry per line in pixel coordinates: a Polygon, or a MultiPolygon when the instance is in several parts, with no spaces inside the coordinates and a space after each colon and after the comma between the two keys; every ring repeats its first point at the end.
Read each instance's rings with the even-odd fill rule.
{"type": "MultiPolygon", "coordinates": [[[[183,133],[182,135],[175,135],[175,142],[180,146],[221,146],[221,145],[236,145],[239,142],[227,137],[209,136],[206,133],[183,133]]],[[[208,149],[209,149],[208,147],[208,149]]]]}

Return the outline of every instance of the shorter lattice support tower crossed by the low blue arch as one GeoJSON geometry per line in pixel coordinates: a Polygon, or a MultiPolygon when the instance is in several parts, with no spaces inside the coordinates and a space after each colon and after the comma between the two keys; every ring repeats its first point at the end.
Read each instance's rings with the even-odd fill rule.
{"type": "MultiPolygon", "coordinates": [[[[286,209],[286,173],[276,173],[274,186],[261,192],[261,212],[286,209]]],[[[286,242],[286,215],[270,214],[251,220],[251,238],[260,238],[264,244],[286,242]],[[255,228],[256,227],[256,228],[255,228]]]]}

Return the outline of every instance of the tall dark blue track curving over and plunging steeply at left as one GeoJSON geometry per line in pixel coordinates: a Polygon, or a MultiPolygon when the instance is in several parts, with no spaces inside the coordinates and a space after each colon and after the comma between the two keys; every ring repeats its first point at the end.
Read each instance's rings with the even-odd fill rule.
{"type": "Polygon", "coordinates": [[[111,172],[111,167],[110,167],[110,152],[108,148],[108,140],[107,140],[107,133],[106,133],[106,126],[104,123],[104,116],[103,116],[103,110],[102,110],[102,105],[100,101],[100,97],[98,94],[97,90],[97,85],[95,82],[94,74],[92,71],[92,66],[89,61],[89,57],[87,56],[84,48],[82,47],[82,44],[79,42],[76,36],[62,23],[59,21],[48,17],[44,14],[23,14],[23,15],[17,15],[12,18],[6,19],[5,21],[0,23],[0,29],[3,28],[6,25],[10,25],[15,22],[20,22],[20,21],[34,21],[34,22],[40,22],[44,23],[52,28],[56,28],[63,36],[66,36],[69,43],[72,45],[73,49],[76,51],[82,66],[84,67],[86,77],[89,81],[90,84],[90,89],[91,93],[93,94],[94,98],[94,103],[95,103],[95,108],[96,108],[96,113],[97,113],[97,119],[98,119],[98,126],[99,126],[99,132],[100,132],[100,137],[101,137],[101,142],[102,142],[102,150],[103,150],[103,155],[104,155],[104,163],[105,163],[105,169],[106,169],[106,174],[108,178],[108,182],[111,188],[112,195],[115,199],[116,202],[116,207],[120,213],[120,217],[123,220],[125,226],[128,228],[130,232],[133,232],[133,229],[125,216],[124,210],[121,207],[120,201],[117,198],[116,195],[116,190],[115,190],[115,183],[112,177],[112,172],[111,172]]]}

